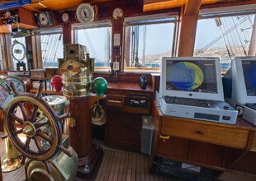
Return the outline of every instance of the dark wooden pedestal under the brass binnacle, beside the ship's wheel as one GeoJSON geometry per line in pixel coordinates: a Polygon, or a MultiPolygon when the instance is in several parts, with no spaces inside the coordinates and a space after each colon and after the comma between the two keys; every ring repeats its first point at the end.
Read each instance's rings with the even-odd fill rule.
{"type": "MultiPolygon", "coordinates": [[[[103,151],[100,146],[92,146],[92,105],[105,99],[105,96],[88,95],[69,98],[68,111],[75,124],[66,123],[65,131],[69,134],[70,146],[78,153],[78,177],[93,179],[99,168],[103,151]]],[[[83,180],[78,179],[78,180],[83,180]]]]}

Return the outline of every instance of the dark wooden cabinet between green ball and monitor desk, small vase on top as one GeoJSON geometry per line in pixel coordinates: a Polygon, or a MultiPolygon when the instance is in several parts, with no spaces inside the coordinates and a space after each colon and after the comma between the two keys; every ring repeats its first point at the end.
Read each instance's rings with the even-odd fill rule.
{"type": "Polygon", "coordinates": [[[106,145],[140,151],[141,116],[151,113],[152,90],[135,83],[109,83],[106,145]]]}

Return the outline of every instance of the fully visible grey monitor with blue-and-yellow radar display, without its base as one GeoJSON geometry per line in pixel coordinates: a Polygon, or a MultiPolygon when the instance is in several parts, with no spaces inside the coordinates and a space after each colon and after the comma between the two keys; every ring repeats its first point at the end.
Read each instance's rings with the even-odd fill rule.
{"type": "Polygon", "coordinates": [[[224,100],[219,58],[164,57],[160,95],[224,100]]]}

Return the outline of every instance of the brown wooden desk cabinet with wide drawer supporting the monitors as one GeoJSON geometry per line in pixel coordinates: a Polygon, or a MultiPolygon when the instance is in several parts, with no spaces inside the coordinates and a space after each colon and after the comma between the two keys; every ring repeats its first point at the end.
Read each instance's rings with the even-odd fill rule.
{"type": "Polygon", "coordinates": [[[153,105],[154,156],[220,171],[256,175],[256,127],[241,118],[235,125],[165,116],[153,105]]]}

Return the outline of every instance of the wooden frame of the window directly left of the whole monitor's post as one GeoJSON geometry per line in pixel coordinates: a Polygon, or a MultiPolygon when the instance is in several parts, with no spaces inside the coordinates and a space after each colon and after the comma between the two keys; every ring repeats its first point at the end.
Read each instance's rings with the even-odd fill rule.
{"type": "MultiPolygon", "coordinates": [[[[123,21],[123,32],[122,37],[126,37],[126,27],[127,26],[143,26],[143,25],[157,25],[162,23],[174,23],[174,31],[173,31],[173,47],[171,49],[172,56],[176,56],[176,48],[177,48],[177,32],[178,32],[178,21],[179,12],[164,12],[159,14],[151,14],[151,15],[142,15],[142,16],[129,16],[125,17],[123,21]],[[158,21],[160,19],[173,17],[173,20],[166,21],[158,21]],[[145,22],[145,23],[131,23],[133,21],[154,21],[154,22],[145,22]]],[[[125,51],[126,51],[126,39],[122,39],[122,58],[121,58],[121,72],[124,73],[158,73],[160,72],[160,67],[125,67],[125,51]],[[133,71],[134,70],[134,71],[133,71]]],[[[130,60],[129,60],[130,61],[130,60]]]]}

